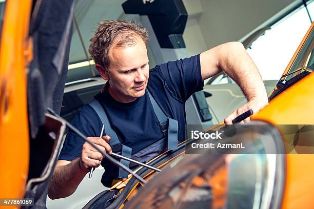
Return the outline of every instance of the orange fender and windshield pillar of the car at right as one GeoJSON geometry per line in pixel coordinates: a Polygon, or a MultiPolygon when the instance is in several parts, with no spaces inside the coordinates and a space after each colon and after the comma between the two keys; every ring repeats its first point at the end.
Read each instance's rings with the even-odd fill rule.
{"type": "MultiPolygon", "coordinates": [[[[293,55],[284,74],[291,68],[306,38],[313,29],[309,28],[295,55],[293,55]]],[[[253,120],[264,120],[272,124],[314,124],[314,74],[298,81],[277,97],[253,120]]],[[[312,139],[314,140],[314,139],[312,139]]],[[[282,208],[313,208],[312,190],[314,188],[314,154],[286,155],[286,184],[282,208]]]]}

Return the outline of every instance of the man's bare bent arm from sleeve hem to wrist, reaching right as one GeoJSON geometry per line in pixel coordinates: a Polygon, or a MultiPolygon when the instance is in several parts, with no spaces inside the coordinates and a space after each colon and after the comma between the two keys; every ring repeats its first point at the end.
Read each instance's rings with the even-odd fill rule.
{"type": "Polygon", "coordinates": [[[267,97],[262,77],[251,57],[240,42],[219,45],[200,55],[202,79],[222,70],[241,88],[248,100],[267,97]]]}

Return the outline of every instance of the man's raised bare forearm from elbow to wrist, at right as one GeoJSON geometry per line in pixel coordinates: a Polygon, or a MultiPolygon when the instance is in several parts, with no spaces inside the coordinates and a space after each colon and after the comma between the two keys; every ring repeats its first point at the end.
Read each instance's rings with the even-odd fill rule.
{"type": "Polygon", "coordinates": [[[247,100],[254,97],[267,98],[258,68],[241,43],[228,43],[221,54],[223,56],[219,56],[219,67],[240,86],[247,100]]]}

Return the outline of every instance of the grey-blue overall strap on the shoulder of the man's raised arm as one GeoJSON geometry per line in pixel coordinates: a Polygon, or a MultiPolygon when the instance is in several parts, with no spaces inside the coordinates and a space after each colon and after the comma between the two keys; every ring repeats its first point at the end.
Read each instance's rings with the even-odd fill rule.
{"type": "Polygon", "coordinates": [[[148,89],[147,92],[159,123],[162,124],[168,120],[168,150],[178,150],[178,120],[167,117],[148,89]]]}

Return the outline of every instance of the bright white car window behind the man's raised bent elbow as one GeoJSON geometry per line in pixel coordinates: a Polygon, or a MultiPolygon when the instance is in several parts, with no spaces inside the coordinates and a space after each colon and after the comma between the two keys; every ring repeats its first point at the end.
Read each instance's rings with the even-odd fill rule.
{"type": "MultiPolygon", "coordinates": [[[[308,4],[308,9],[313,16],[314,2],[308,4]]],[[[280,79],[310,25],[308,13],[301,6],[271,26],[247,49],[263,80],[280,79]]]]}

